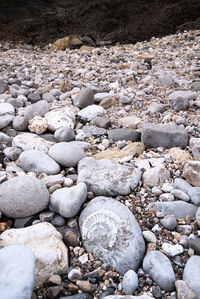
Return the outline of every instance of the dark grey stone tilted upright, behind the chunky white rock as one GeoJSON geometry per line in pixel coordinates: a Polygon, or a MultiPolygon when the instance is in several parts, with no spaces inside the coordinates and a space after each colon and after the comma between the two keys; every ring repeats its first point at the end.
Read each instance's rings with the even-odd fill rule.
{"type": "Polygon", "coordinates": [[[94,104],[94,92],[91,88],[85,88],[73,99],[73,105],[78,108],[85,108],[94,104]]]}

